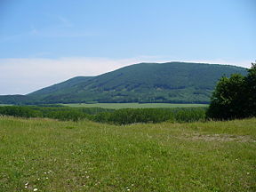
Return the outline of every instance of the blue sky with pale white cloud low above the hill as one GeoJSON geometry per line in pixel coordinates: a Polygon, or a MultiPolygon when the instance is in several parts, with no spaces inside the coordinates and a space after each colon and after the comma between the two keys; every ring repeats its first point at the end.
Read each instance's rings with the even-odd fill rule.
{"type": "Polygon", "coordinates": [[[256,0],[0,0],[0,95],[139,62],[250,68],[256,0]]]}

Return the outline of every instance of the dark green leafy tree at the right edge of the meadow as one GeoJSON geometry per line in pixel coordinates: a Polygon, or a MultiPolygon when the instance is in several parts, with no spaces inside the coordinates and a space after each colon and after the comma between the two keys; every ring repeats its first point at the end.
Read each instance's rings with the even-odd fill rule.
{"type": "Polygon", "coordinates": [[[248,75],[223,76],[212,93],[207,116],[213,119],[234,119],[256,116],[256,64],[248,75]]]}

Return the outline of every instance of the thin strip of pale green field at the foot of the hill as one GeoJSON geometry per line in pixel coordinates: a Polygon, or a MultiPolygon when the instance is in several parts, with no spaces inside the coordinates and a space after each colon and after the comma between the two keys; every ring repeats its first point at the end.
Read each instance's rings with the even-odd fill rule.
{"type": "Polygon", "coordinates": [[[83,107],[83,108],[191,108],[191,107],[208,107],[207,104],[172,104],[172,103],[71,103],[63,104],[68,107],[83,107]]]}

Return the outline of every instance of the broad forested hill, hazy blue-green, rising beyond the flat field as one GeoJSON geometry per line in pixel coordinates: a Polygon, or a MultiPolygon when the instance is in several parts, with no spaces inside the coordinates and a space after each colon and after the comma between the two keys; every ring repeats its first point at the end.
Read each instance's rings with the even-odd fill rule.
{"type": "Polygon", "coordinates": [[[100,76],[77,76],[26,96],[28,103],[207,103],[220,77],[234,73],[247,71],[218,64],[140,63],[100,76]]]}

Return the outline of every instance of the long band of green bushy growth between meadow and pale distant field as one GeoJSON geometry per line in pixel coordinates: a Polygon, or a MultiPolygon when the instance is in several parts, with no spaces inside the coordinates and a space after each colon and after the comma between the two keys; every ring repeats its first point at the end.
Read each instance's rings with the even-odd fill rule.
{"type": "Polygon", "coordinates": [[[68,108],[62,106],[5,106],[2,116],[47,117],[63,121],[88,119],[108,124],[195,122],[205,120],[206,108],[68,108]]]}

